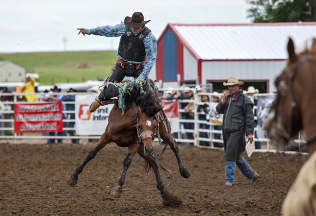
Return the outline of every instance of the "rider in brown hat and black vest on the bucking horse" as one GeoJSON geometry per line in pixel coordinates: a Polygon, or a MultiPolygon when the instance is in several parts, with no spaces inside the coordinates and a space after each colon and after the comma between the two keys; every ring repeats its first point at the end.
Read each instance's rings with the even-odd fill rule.
{"type": "Polygon", "coordinates": [[[107,104],[107,100],[118,95],[118,85],[125,76],[146,80],[156,61],[157,39],[145,25],[150,20],[144,20],[141,12],[126,16],[124,22],[115,26],[102,26],[94,29],[77,28],[78,34],[100,35],[106,37],[121,37],[118,47],[117,61],[107,78],[104,88],[90,105],[90,112],[99,106],[107,104]]]}

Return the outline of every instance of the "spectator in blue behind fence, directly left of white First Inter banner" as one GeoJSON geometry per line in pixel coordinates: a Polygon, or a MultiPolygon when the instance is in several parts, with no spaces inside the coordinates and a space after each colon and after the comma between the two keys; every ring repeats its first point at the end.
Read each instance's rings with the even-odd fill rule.
{"type": "MultiPolygon", "coordinates": [[[[69,88],[69,90],[67,91],[68,93],[69,92],[76,92],[77,90],[73,89],[73,88],[69,88]]],[[[65,102],[73,102],[72,104],[65,104],[66,106],[66,110],[67,111],[73,111],[73,113],[67,113],[67,119],[69,119],[71,122],[67,122],[65,125],[67,128],[74,128],[74,120],[75,120],[75,113],[74,113],[74,110],[75,110],[75,104],[74,104],[74,101],[75,101],[75,94],[67,94],[67,95],[64,95],[62,97],[62,101],[65,101],[65,102]]],[[[70,136],[74,136],[74,131],[73,130],[69,130],[68,131],[69,135],[70,136]]],[[[78,143],[79,140],[78,139],[75,139],[75,138],[72,138],[71,139],[71,143],[78,143]]]]}

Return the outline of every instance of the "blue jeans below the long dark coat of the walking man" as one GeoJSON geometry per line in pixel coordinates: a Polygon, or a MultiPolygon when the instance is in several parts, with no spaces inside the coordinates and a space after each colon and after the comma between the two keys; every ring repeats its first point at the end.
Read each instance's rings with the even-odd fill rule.
{"type": "Polygon", "coordinates": [[[256,174],[256,172],[251,168],[251,166],[247,163],[243,156],[240,156],[240,159],[242,160],[242,163],[232,160],[226,160],[225,179],[231,184],[234,183],[236,164],[239,170],[247,179],[253,179],[254,175],[256,174]]]}

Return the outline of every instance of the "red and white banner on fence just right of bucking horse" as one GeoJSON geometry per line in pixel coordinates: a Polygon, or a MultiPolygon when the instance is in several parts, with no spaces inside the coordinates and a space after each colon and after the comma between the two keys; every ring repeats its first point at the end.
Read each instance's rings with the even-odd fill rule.
{"type": "Polygon", "coordinates": [[[172,133],[179,132],[178,103],[176,101],[163,101],[163,105],[172,133]]]}

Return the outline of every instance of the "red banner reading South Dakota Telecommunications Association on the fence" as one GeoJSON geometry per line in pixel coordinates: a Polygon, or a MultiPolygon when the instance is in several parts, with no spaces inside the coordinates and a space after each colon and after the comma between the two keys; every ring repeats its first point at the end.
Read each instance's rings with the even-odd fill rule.
{"type": "Polygon", "coordinates": [[[14,104],[14,132],[61,132],[61,102],[14,104]]]}

